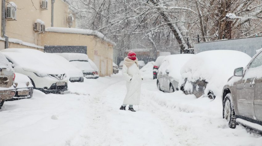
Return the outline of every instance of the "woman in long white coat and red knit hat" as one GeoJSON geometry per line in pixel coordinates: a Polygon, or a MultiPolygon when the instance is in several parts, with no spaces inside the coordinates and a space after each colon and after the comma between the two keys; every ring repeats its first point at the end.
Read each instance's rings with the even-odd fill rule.
{"type": "Polygon", "coordinates": [[[128,110],[135,111],[133,105],[139,105],[141,82],[143,80],[139,72],[135,52],[129,51],[128,56],[125,57],[122,74],[126,81],[127,93],[120,110],[125,110],[125,106],[129,105],[128,110]]]}

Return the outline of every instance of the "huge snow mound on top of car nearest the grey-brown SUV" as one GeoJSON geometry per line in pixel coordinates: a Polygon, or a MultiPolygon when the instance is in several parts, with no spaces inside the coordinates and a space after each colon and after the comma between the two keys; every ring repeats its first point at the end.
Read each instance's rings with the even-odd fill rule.
{"type": "Polygon", "coordinates": [[[206,90],[210,88],[215,95],[220,95],[228,78],[233,76],[234,69],[245,67],[250,60],[251,57],[246,53],[235,50],[200,52],[182,67],[182,80],[185,78],[191,82],[205,80],[208,82],[206,90]]]}

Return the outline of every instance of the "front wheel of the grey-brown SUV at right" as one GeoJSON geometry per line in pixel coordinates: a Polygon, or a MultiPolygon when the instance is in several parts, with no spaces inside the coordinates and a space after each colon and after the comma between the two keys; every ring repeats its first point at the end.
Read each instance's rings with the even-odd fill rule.
{"type": "Polygon", "coordinates": [[[230,128],[235,128],[236,118],[233,103],[231,101],[231,93],[228,93],[223,102],[223,119],[226,119],[230,128]]]}

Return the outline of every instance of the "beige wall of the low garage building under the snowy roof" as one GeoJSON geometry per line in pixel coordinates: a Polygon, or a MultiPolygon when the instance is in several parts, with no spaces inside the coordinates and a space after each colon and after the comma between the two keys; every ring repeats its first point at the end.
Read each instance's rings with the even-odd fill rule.
{"type": "Polygon", "coordinates": [[[94,35],[46,32],[41,34],[39,45],[87,46],[87,55],[99,69],[99,75],[113,74],[113,44],[94,35]],[[55,38],[55,39],[54,39],[55,38]]]}

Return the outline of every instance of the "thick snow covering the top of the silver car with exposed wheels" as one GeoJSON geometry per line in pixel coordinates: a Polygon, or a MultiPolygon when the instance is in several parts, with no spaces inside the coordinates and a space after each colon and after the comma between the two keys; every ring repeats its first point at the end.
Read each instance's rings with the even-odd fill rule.
{"type": "Polygon", "coordinates": [[[158,72],[162,72],[163,75],[166,74],[166,70],[169,71],[168,76],[172,77],[175,81],[179,81],[181,74],[180,69],[189,60],[193,57],[194,54],[174,54],[166,56],[162,64],[160,65],[158,72]],[[166,63],[164,63],[166,61],[166,63]]]}

